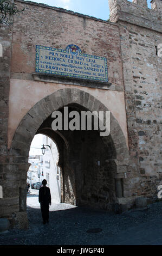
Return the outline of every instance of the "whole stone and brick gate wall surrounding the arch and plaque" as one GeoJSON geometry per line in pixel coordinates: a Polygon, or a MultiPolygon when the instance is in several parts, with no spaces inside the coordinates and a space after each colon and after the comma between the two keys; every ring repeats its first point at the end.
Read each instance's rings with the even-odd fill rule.
{"type": "MultiPolygon", "coordinates": [[[[87,155],[93,155],[90,165],[94,164],[96,182],[99,181],[100,184],[98,187],[93,187],[88,183],[85,188],[81,188],[81,190],[85,189],[82,195],[81,190],[77,191],[79,202],[83,203],[89,194],[89,185],[92,185],[94,192],[94,199],[89,197],[90,202],[93,203],[94,200],[96,204],[95,200],[98,200],[98,205],[101,206],[100,202],[102,202],[104,209],[107,208],[104,203],[104,193],[107,193],[107,188],[113,191],[111,196],[116,205],[127,204],[125,210],[134,206],[134,200],[138,196],[157,199],[157,186],[161,182],[162,71],[161,58],[157,56],[157,46],[162,41],[161,1],[153,0],[153,10],[151,10],[147,8],[146,0],[140,2],[133,0],[133,3],[127,0],[109,0],[111,22],[44,4],[22,0],[15,0],[15,3],[18,8],[25,10],[14,17],[13,27],[0,28],[5,56],[1,59],[0,88],[1,107],[3,107],[1,184],[4,188],[3,199],[0,201],[1,217],[8,217],[12,225],[27,227],[25,185],[30,142],[38,127],[54,109],[78,102],[91,111],[107,110],[111,107],[111,112],[116,118],[111,115],[113,118],[111,136],[116,159],[111,157],[106,159],[102,149],[104,164],[96,174],[98,167],[96,162],[94,164],[94,160],[95,155],[100,157],[100,150],[94,150],[94,155],[88,151],[87,155]],[[38,81],[34,81],[35,46],[65,49],[72,43],[78,45],[83,53],[107,58],[109,82],[112,83],[112,87],[87,88],[85,83],[78,89],[77,82],[71,84],[67,81],[65,83],[57,81],[56,83],[52,79],[46,81],[40,77],[38,81]],[[118,111],[119,108],[122,114],[118,111]],[[18,109],[18,112],[14,110],[14,118],[11,118],[13,109],[18,109]],[[12,136],[9,136],[12,126],[14,126],[12,135],[15,133],[13,140],[12,136]],[[125,131],[122,131],[123,129],[125,131]],[[9,144],[8,139],[10,139],[9,144]],[[104,190],[106,188],[105,192],[103,188],[104,190]]],[[[95,142],[93,143],[94,147],[95,142]]],[[[109,146],[107,152],[110,153],[111,145],[106,140],[105,143],[109,146]]],[[[102,147],[101,142],[98,144],[102,147]]],[[[63,154],[63,144],[62,147],[63,154]]],[[[75,152],[74,156],[73,159],[76,160],[75,152]]],[[[64,186],[63,179],[66,176],[68,180],[70,172],[68,168],[66,168],[67,175],[62,173],[61,187],[64,187],[65,191],[67,186],[64,186]]],[[[94,173],[87,173],[89,168],[87,164],[85,175],[91,180],[94,173]]],[[[76,176],[79,175],[81,172],[76,176]]],[[[73,182],[73,186],[77,185],[77,182],[73,182]]],[[[62,193],[62,199],[64,202],[70,202],[67,193],[62,193]]],[[[73,195],[70,203],[74,203],[75,199],[73,195]]]]}

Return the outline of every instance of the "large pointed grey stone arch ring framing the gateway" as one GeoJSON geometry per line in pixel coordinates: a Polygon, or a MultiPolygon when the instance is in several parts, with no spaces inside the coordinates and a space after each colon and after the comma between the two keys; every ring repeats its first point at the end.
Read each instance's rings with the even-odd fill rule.
{"type": "MultiPolygon", "coordinates": [[[[94,96],[84,92],[80,89],[65,88],[58,90],[57,92],[44,97],[41,101],[37,102],[33,108],[25,115],[21,120],[21,123],[17,127],[14,138],[12,140],[9,158],[10,165],[16,169],[17,187],[15,188],[15,196],[19,200],[19,205],[15,209],[15,220],[18,223],[25,222],[26,215],[26,174],[29,167],[28,155],[32,139],[38,131],[41,124],[49,117],[49,115],[64,106],[68,105],[80,105],[89,111],[108,111],[108,109],[94,96]],[[23,220],[22,220],[23,216],[23,220]]],[[[103,137],[103,142],[109,147],[110,138],[113,141],[115,148],[115,159],[106,160],[107,166],[111,169],[111,178],[114,179],[115,191],[113,193],[113,204],[116,202],[116,198],[123,196],[123,187],[121,180],[127,173],[129,153],[125,141],[125,136],[121,130],[118,121],[113,117],[111,113],[111,131],[108,137],[103,137]]]]}

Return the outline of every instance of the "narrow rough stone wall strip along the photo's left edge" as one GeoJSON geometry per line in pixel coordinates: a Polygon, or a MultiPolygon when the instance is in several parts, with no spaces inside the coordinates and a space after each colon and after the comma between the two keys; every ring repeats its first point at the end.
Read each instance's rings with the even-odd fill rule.
{"type": "MultiPolygon", "coordinates": [[[[11,193],[7,193],[4,187],[8,183],[10,170],[8,156],[8,117],[9,117],[9,90],[10,90],[10,69],[11,69],[11,45],[12,26],[0,26],[0,38],[3,47],[3,57],[0,57],[0,181],[3,187],[3,198],[0,199],[1,217],[11,217],[11,212],[19,205],[19,198],[12,198],[11,193]],[[4,199],[5,198],[5,199],[4,199]]],[[[9,187],[12,187],[12,182],[9,187]]]]}

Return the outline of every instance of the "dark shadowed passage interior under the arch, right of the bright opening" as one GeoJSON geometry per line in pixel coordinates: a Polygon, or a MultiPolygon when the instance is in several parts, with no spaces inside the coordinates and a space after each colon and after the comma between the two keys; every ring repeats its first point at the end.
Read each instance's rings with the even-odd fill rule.
{"type": "MultiPolygon", "coordinates": [[[[63,108],[59,110],[63,115],[63,108]]],[[[69,106],[69,112],[85,110],[76,104],[69,106]]],[[[111,136],[105,144],[98,131],[53,131],[53,120],[50,115],[37,133],[49,136],[59,149],[61,202],[111,210],[115,197],[112,176],[115,166],[113,162],[112,166],[106,162],[107,159],[115,159],[111,136]]]]}

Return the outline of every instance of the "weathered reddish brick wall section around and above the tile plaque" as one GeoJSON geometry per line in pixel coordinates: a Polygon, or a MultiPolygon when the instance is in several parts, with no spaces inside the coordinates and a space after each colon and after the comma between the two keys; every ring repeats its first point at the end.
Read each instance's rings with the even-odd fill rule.
{"type": "Polygon", "coordinates": [[[65,49],[75,42],[83,53],[107,58],[109,82],[123,91],[118,25],[45,4],[16,4],[25,10],[14,17],[12,78],[33,80],[36,45],[65,49]]]}

